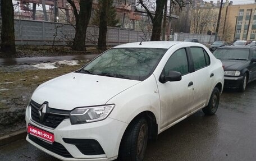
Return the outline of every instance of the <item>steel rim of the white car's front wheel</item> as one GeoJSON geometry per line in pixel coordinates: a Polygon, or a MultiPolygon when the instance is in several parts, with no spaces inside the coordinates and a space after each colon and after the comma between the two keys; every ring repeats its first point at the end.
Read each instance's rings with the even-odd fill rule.
{"type": "Polygon", "coordinates": [[[147,139],[147,130],[146,130],[146,125],[142,125],[140,127],[140,132],[138,135],[138,143],[137,143],[137,154],[139,156],[139,158],[143,157],[143,150],[144,150],[144,146],[145,146],[145,141],[147,139]]]}

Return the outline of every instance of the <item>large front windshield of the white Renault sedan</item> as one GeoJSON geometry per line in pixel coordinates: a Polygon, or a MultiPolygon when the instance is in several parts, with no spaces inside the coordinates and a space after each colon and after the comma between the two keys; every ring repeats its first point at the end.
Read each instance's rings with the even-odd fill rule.
{"type": "Polygon", "coordinates": [[[151,75],[166,51],[158,48],[113,48],[79,72],[142,81],[151,75]]]}

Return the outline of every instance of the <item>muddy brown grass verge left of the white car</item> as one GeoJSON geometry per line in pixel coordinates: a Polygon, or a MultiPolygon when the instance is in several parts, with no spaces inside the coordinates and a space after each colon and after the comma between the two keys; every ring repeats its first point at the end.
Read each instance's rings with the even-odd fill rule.
{"type": "Polygon", "coordinates": [[[25,127],[25,109],[33,91],[45,81],[79,69],[79,65],[59,65],[40,70],[31,65],[0,67],[0,136],[25,127]]]}

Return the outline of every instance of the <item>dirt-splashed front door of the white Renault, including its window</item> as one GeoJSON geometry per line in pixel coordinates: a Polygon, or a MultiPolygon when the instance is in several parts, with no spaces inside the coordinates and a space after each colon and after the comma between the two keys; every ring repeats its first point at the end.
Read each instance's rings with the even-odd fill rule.
{"type": "Polygon", "coordinates": [[[161,100],[161,130],[170,127],[173,122],[188,114],[189,106],[193,102],[193,74],[189,72],[185,48],[171,54],[161,75],[168,75],[168,71],[178,71],[182,78],[180,81],[165,83],[157,81],[161,100]]]}

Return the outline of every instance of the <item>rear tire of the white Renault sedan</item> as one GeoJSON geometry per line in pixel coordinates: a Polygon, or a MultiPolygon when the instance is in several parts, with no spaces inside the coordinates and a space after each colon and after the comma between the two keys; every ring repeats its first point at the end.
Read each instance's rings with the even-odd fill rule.
{"type": "Polygon", "coordinates": [[[219,104],[220,104],[220,90],[216,87],[212,91],[212,95],[208,105],[203,108],[203,112],[206,115],[213,115],[216,113],[219,104]]]}

